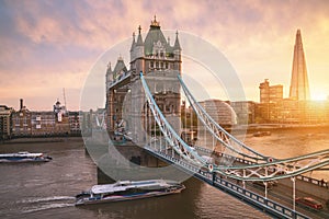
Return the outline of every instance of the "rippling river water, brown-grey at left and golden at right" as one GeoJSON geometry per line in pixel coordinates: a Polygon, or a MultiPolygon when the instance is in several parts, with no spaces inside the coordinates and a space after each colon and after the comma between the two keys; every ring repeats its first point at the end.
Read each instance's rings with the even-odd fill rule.
{"type": "MultiPolygon", "coordinates": [[[[261,138],[248,135],[246,142],[265,154],[287,158],[328,149],[329,134],[318,129],[277,130],[261,138]]],[[[98,183],[97,166],[86,153],[83,141],[0,145],[1,153],[13,151],[42,151],[54,160],[0,163],[0,218],[269,218],[195,178],[185,181],[186,189],[177,195],[75,207],[73,196],[98,183]]]]}

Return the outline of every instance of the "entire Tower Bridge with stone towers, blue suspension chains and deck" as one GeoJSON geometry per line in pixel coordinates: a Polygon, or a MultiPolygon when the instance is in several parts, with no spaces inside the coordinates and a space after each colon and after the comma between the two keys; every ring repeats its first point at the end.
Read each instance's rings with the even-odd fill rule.
{"type": "MultiPolygon", "coordinates": [[[[181,65],[178,33],[171,46],[156,18],[145,41],[139,26],[137,41],[133,34],[131,69],[127,70],[122,57],[114,70],[111,65],[107,68],[106,112],[110,135],[126,136],[154,157],[273,217],[329,217],[327,207],[314,211],[296,206],[295,203],[300,180],[307,180],[300,175],[328,168],[329,150],[276,159],[246,146],[219,126],[197,103],[181,78],[181,65]],[[209,150],[203,146],[191,146],[181,138],[181,90],[198,120],[213,139],[219,142],[220,148],[214,146],[209,150]],[[123,123],[125,127],[122,128],[123,123]],[[276,181],[279,188],[270,191],[276,181]],[[256,189],[253,182],[260,182],[258,185],[262,189],[256,189]]],[[[328,194],[328,183],[305,184],[310,191],[328,194]]]]}

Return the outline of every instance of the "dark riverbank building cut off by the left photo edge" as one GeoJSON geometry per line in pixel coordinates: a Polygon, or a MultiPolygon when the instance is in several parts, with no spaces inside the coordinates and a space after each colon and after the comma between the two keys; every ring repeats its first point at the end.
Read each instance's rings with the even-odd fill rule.
{"type": "Polygon", "coordinates": [[[0,139],[8,139],[11,136],[12,123],[11,113],[12,108],[7,105],[0,105],[0,139]]]}

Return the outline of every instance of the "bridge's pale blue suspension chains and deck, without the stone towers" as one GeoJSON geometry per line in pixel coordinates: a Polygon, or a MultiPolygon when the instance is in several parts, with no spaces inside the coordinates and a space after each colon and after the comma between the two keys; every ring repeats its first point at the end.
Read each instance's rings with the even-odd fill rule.
{"type": "MultiPolygon", "coordinates": [[[[328,209],[326,211],[318,212],[318,215],[309,214],[308,211],[305,212],[302,209],[302,211],[304,211],[304,214],[302,214],[296,210],[295,203],[296,177],[303,173],[328,166],[329,150],[282,160],[262,155],[225,131],[218,124],[212,120],[206,112],[198,105],[193,108],[195,110],[196,107],[201,107],[198,111],[203,112],[205,114],[204,116],[208,119],[208,123],[204,124],[209,126],[209,128],[213,128],[212,134],[217,138],[217,140],[219,140],[224,148],[234,152],[234,154],[226,154],[225,150],[220,151],[217,155],[217,158],[219,158],[219,162],[206,160],[202,155],[202,152],[206,152],[206,154],[209,155],[213,151],[202,147],[192,147],[186,145],[166,120],[166,117],[157,106],[141,72],[140,79],[148,106],[150,107],[152,116],[161,130],[158,138],[163,139],[163,143],[156,143],[161,141],[155,141],[155,136],[151,137],[152,140],[145,146],[145,149],[151,154],[174,164],[182,171],[193,174],[195,177],[213,185],[214,187],[262,209],[271,216],[277,218],[321,218],[329,216],[328,209]],[[214,130],[215,128],[218,128],[219,130],[214,130]],[[171,150],[168,150],[168,148],[171,150]],[[228,159],[234,162],[230,164],[223,162],[223,158],[224,161],[228,159]],[[292,180],[293,197],[290,198],[282,195],[282,193],[286,193],[286,191],[275,193],[275,195],[273,193],[269,194],[270,183],[284,178],[292,180]],[[264,194],[259,194],[247,188],[248,182],[263,183],[264,194]],[[282,201],[285,199],[288,199],[290,201],[282,201]]],[[[185,87],[181,79],[180,82],[182,83],[182,87],[185,87]]],[[[186,92],[189,91],[186,90],[186,92]]],[[[191,95],[191,100],[192,99],[193,96],[191,95]]],[[[193,106],[196,102],[192,103],[191,101],[190,104],[193,106]]],[[[200,118],[201,115],[198,113],[196,114],[200,118]]],[[[315,189],[311,188],[311,185],[309,185],[309,187],[310,189],[315,189]]],[[[327,187],[316,189],[321,189],[324,193],[328,193],[327,187]]]]}

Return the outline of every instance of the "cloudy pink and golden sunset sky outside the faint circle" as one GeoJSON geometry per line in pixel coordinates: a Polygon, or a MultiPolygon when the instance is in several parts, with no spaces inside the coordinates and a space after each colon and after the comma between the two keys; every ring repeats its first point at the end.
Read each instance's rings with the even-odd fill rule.
{"type": "Polygon", "coordinates": [[[68,110],[79,110],[99,57],[132,38],[138,25],[145,38],[155,14],[162,30],[194,34],[223,53],[247,100],[257,102],[264,79],[283,84],[288,96],[300,28],[311,97],[329,95],[326,0],[0,0],[0,105],[19,110],[24,99],[30,110],[50,111],[57,99],[64,102],[65,88],[68,110]]]}

